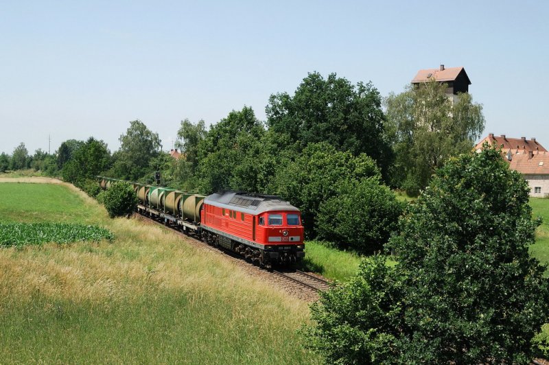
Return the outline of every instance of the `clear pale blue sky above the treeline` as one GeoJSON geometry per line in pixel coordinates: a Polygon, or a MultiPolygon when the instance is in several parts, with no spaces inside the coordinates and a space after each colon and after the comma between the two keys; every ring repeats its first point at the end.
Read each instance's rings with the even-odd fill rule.
{"type": "Polygon", "coordinates": [[[546,1],[0,0],[0,152],[66,139],[111,151],[129,121],[165,150],[180,121],[219,121],[307,72],[386,96],[419,69],[463,66],[484,134],[549,148],[546,1]]]}

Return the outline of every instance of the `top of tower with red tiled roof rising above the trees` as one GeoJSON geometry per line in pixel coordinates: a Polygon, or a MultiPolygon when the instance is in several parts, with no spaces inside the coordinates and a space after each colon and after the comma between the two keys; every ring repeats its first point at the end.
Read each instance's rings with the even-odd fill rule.
{"type": "Polygon", "coordinates": [[[446,93],[457,95],[458,93],[468,93],[471,80],[463,67],[448,67],[443,64],[439,69],[424,69],[417,71],[416,77],[412,80],[414,86],[419,86],[423,82],[431,80],[444,82],[447,85],[446,93]]]}

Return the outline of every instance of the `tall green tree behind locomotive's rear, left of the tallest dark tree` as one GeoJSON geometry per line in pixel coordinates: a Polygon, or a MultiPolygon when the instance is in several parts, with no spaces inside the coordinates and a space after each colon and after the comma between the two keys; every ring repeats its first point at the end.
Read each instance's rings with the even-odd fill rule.
{"type": "Polygon", "coordinates": [[[198,148],[200,190],[206,193],[220,189],[264,190],[265,187],[259,186],[253,163],[264,134],[263,124],[247,106],[240,111],[231,111],[225,119],[211,126],[198,148]]]}

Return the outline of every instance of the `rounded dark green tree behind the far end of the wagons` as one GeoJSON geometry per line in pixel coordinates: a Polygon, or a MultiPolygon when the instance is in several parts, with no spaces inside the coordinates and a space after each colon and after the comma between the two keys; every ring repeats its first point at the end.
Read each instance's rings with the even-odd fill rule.
{"type": "Polygon", "coordinates": [[[62,176],[65,181],[79,186],[80,180],[95,179],[109,167],[110,151],[106,143],[90,137],[65,163],[62,176]]]}

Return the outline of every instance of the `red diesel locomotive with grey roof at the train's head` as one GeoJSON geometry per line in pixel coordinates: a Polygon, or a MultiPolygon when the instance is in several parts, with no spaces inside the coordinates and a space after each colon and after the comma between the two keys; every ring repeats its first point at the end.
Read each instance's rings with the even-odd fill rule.
{"type": "Polygon", "coordinates": [[[215,193],[205,198],[201,212],[202,238],[209,244],[264,266],[305,257],[299,209],[276,196],[215,193]]]}

